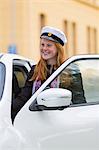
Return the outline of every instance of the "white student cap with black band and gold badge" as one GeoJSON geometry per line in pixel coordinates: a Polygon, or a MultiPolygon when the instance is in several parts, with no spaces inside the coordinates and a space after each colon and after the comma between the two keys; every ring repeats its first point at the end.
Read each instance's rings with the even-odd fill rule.
{"type": "Polygon", "coordinates": [[[40,38],[45,38],[54,42],[58,42],[62,46],[67,43],[67,38],[63,31],[50,26],[45,26],[42,28],[40,38]]]}

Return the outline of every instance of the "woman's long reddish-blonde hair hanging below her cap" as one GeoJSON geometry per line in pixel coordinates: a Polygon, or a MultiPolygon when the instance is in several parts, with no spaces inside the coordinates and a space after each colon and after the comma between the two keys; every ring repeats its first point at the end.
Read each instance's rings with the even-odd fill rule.
{"type": "MultiPolygon", "coordinates": [[[[57,69],[64,61],[65,61],[65,53],[64,48],[61,44],[55,43],[57,48],[57,58],[56,58],[56,65],[55,68],[57,69]]],[[[44,60],[42,57],[39,60],[38,64],[36,65],[34,69],[33,76],[30,80],[46,80],[47,77],[47,63],[46,60],[44,60]]]]}

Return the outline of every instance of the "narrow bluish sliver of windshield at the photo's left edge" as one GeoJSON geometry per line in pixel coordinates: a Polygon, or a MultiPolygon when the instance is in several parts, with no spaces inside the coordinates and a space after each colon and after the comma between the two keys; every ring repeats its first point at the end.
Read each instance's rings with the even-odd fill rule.
{"type": "Polygon", "coordinates": [[[0,63],[0,100],[2,98],[4,83],[5,83],[5,66],[4,64],[0,63]]]}

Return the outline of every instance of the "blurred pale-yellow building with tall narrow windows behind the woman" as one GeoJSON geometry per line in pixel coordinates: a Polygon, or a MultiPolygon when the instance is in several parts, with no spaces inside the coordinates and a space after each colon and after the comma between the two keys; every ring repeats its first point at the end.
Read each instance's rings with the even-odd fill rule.
{"type": "Polygon", "coordinates": [[[45,25],[65,32],[67,57],[99,53],[99,0],[0,0],[0,52],[38,60],[45,25]]]}

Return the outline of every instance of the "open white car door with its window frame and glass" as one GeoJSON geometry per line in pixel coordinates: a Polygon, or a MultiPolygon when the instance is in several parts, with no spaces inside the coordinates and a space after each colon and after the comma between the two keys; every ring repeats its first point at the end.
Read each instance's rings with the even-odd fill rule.
{"type": "MultiPolygon", "coordinates": [[[[24,138],[23,149],[99,149],[98,65],[99,56],[71,58],[39,88],[14,121],[14,127],[24,138]],[[62,107],[60,102],[55,107],[50,101],[52,93],[46,98],[43,96],[40,101],[47,103],[40,105],[39,95],[48,90],[56,78],[58,89],[71,91],[70,105],[62,107]]],[[[57,102],[58,98],[54,100],[57,102]]]]}

